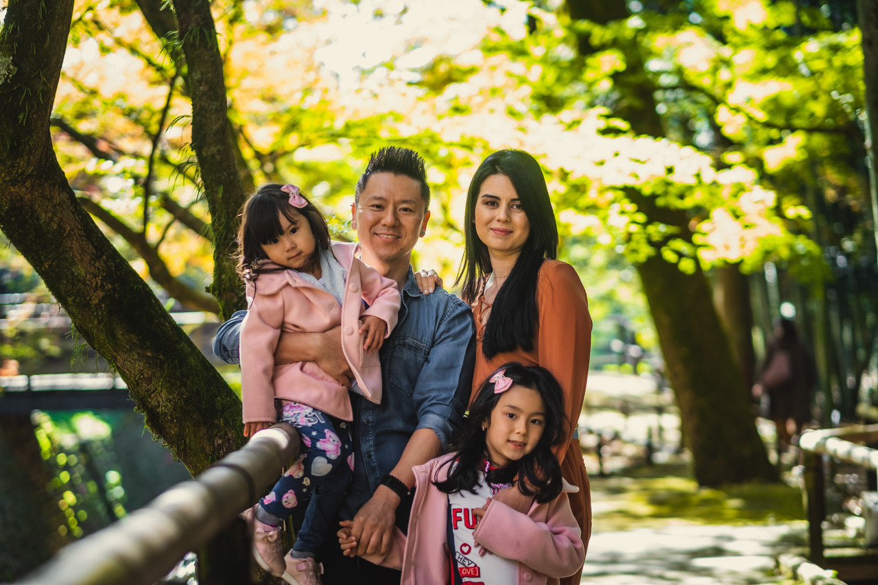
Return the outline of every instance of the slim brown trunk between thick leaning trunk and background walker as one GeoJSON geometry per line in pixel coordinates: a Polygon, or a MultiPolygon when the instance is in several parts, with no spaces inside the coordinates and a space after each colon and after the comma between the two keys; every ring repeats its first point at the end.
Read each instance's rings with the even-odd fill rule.
{"type": "Polygon", "coordinates": [[[738,264],[716,268],[714,283],[716,314],[729,337],[732,355],[744,380],[749,396],[755,381],[756,353],[753,351],[753,309],[750,302],[750,280],[738,264]]]}

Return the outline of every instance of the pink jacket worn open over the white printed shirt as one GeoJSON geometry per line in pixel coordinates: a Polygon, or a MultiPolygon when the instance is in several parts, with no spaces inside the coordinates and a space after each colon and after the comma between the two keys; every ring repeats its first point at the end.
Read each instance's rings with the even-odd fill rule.
{"type": "MultiPolygon", "coordinates": [[[[363,557],[373,563],[402,571],[401,585],[445,585],[449,582],[449,552],[446,545],[448,495],[432,479],[448,475],[441,464],[454,454],[432,459],[414,467],[415,492],[408,536],[399,528],[389,552],[363,557]]],[[[491,500],[485,516],[473,533],[476,542],[494,554],[518,560],[518,585],[558,583],[575,574],[585,562],[586,552],[579,537],[579,524],[565,492],[578,488],[564,482],[564,492],[548,503],[531,505],[527,514],[491,500]]]]}

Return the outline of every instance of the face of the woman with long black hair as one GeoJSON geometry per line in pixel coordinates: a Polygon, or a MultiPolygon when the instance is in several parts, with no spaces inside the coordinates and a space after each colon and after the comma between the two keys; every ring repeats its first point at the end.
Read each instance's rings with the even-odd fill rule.
{"type": "Polygon", "coordinates": [[[491,175],[482,183],[473,221],[491,256],[518,256],[530,235],[530,221],[506,175],[491,175]]]}

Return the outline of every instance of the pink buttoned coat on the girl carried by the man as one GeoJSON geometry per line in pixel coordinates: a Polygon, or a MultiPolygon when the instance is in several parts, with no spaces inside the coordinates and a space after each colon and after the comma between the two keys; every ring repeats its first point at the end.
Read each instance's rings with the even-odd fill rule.
{"type": "Polygon", "coordinates": [[[241,324],[244,423],[276,420],[275,398],[302,402],[345,421],[353,419],[348,388],[316,364],[275,365],[281,331],[320,333],[341,325],[344,357],[360,391],[372,402],[381,401],[378,351],[363,351],[359,319],[361,314],[383,319],[386,339],[396,326],[399,291],[394,281],[354,256],[356,243],[331,242],[330,249],[348,271],[341,307],[332,294],[306,282],[296,271],[266,272],[255,283],[247,283],[249,308],[241,324]],[[363,300],[370,305],[364,311],[363,300]]]}

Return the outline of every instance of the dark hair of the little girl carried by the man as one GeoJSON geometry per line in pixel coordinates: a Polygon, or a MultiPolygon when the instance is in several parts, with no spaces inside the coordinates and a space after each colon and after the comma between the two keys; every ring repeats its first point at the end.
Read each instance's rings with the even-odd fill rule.
{"type": "Polygon", "coordinates": [[[269,243],[281,234],[281,214],[290,221],[295,219],[297,213],[306,219],[317,244],[315,253],[329,249],[329,228],[320,209],[304,195],[302,199],[308,205],[301,208],[292,206],[290,194],[282,191],[283,187],[277,183],[263,184],[244,203],[238,230],[238,272],[243,278],[254,278],[259,273],[259,263],[267,257],[262,244],[269,243]]]}

